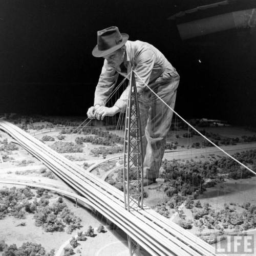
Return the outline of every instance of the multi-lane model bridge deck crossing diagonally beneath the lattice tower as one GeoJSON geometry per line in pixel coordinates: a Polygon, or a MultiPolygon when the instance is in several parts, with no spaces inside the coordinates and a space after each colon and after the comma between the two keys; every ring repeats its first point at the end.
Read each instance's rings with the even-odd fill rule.
{"type": "Polygon", "coordinates": [[[120,227],[151,255],[216,255],[214,247],[146,206],[143,209],[133,207],[130,212],[127,211],[124,208],[122,191],[84,172],[82,167],[14,124],[1,120],[0,130],[44,163],[55,175],[86,198],[90,206],[120,227]]]}

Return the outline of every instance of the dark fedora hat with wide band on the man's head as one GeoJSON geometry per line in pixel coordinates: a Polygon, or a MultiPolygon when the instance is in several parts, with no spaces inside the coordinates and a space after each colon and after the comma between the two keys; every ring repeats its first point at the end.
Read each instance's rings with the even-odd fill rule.
{"type": "Polygon", "coordinates": [[[109,27],[97,32],[97,45],[94,47],[92,54],[94,57],[103,57],[119,48],[128,40],[129,35],[120,33],[118,27],[109,27]]]}

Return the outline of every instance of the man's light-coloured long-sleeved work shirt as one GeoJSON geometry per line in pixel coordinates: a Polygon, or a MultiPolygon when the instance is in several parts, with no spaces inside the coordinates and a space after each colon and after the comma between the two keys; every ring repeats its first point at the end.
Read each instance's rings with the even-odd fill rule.
{"type": "MultiPolygon", "coordinates": [[[[172,76],[173,73],[177,73],[170,62],[153,45],[139,40],[128,40],[125,43],[125,46],[126,53],[124,62],[120,67],[114,68],[108,64],[106,59],[104,60],[95,90],[94,105],[105,105],[106,99],[115,87],[118,75],[121,74],[126,77],[127,74],[130,73],[132,66],[134,71],[141,78],[140,79],[135,75],[137,92],[139,94],[147,90],[144,83],[146,83],[150,88],[156,86],[157,78],[159,78],[164,71],[167,71],[170,76],[172,76]]],[[[127,79],[130,79],[130,76],[128,76],[127,79]]],[[[126,107],[128,97],[129,89],[126,88],[120,98],[116,101],[115,105],[123,110],[126,107]]]]}

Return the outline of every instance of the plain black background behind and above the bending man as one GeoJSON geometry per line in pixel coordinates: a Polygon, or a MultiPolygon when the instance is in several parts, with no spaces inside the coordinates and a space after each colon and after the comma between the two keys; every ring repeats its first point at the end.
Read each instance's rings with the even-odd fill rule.
{"type": "MultiPolygon", "coordinates": [[[[255,30],[182,41],[178,20],[167,20],[214,2],[1,0],[0,113],[86,115],[103,63],[91,55],[96,32],[118,26],[131,40],[153,44],[177,69],[181,116],[255,126],[255,30]]],[[[252,8],[247,4],[243,9],[252,8]]]]}

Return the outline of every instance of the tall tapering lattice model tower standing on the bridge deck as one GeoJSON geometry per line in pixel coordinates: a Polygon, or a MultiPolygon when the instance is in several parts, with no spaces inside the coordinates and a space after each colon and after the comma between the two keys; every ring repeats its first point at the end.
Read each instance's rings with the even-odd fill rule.
{"type": "MultiPolygon", "coordinates": [[[[129,82],[124,133],[123,191],[128,211],[143,208],[143,158],[140,112],[133,68],[129,82]]],[[[139,245],[129,236],[130,255],[140,254],[139,245]]]]}

